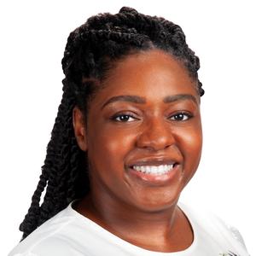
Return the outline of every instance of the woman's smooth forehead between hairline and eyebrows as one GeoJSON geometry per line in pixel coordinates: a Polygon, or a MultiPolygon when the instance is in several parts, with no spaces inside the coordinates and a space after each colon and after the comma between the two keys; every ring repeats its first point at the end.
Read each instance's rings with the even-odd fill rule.
{"type": "Polygon", "coordinates": [[[137,95],[156,101],[179,94],[199,98],[196,81],[172,55],[152,49],[117,61],[103,81],[99,97],[137,95]]]}

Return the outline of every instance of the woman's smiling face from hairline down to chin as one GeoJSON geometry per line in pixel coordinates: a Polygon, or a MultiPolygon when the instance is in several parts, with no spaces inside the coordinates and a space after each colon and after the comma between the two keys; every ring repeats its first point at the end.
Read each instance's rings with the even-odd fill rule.
{"type": "MultiPolygon", "coordinates": [[[[88,153],[95,201],[150,212],[177,202],[201,158],[195,88],[188,71],[156,49],[111,70],[90,103],[84,137],[77,136],[88,153]]],[[[82,129],[77,119],[74,125],[82,129]]]]}

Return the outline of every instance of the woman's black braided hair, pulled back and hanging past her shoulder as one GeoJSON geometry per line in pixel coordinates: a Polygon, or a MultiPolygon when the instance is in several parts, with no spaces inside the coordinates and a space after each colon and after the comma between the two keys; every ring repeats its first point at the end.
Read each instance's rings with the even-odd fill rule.
{"type": "Polygon", "coordinates": [[[20,224],[22,239],[90,191],[87,154],[74,136],[73,108],[80,108],[86,119],[90,100],[101,89],[99,84],[108,76],[108,70],[126,55],[148,49],[164,50],[180,61],[197,82],[199,96],[204,94],[197,75],[199,58],[186,44],[181,27],[171,21],[123,7],[116,15],[90,17],[69,35],[61,61],[65,74],[61,104],[38,187],[20,224]]]}

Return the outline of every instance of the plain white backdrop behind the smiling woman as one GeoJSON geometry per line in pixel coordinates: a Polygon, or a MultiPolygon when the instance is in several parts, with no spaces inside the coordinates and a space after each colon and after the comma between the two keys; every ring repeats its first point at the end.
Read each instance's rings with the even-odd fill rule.
{"type": "Polygon", "coordinates": [[[61,101],[69,32],[91,15],[130,6],[182,26],[201,58],[204,148],[181,201],[236,226],[251,255],[256,229],[256,15],[253,1],[2,1],[0,6],[1,255],[18,230],[44,164],[61,101]]]}

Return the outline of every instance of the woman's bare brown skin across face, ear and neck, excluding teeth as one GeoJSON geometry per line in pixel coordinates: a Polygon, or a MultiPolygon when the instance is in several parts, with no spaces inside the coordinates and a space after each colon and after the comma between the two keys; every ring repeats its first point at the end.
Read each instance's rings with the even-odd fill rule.
{"type": "Polygon", "coordinates": [[[90,161],[90,194],[75,209],[116,236],[152,251],[177,252],[193,230],[177,201],[201,158],[196,81],[159,49],[128,55],[90,102],[73,110],[79,147],[90,161]],[[134,166],[171,165],[145,174],[134,166]]]}

